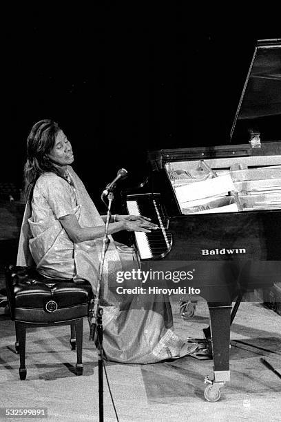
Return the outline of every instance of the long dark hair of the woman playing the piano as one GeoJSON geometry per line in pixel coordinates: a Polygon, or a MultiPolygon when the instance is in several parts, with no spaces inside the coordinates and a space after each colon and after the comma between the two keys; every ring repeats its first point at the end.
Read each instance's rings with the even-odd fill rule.
{"type": "Polygon", "coordinates": [[[41,174],[54,172],[61,176],[59,168],[47,156],[54,147],[59,130],[58,123],[49,119],[38,121],[32,126],[28,135],[28,159],[23,171],[26,201],[32,201],[34,185],[41,174]]]}

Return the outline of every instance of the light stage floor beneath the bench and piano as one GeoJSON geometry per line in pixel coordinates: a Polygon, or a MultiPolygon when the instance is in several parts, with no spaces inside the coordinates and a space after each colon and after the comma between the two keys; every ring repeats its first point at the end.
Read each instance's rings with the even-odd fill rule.
{"type": "MultiPolygon", "coordinates": [[[[180,318],[176,301],[172,308],[175,331],[202,338],[209,323],[207,303],[199,299],[188,321],[180,318]]],[[[48,408],[48,421],[98,421],[98,359],[87,319],[83,376],[75,374],[70,328],[37,328],[27,333],[25,381],[19,380],[14,323],[3,314],[0,319],[0,406],[48,408]]],[[[260,303],[241,303],[231,329],[231,382],[216,403],[204,398],[210,360],[187,356],[153,365],[106,363],[119,421],[280,421],[281,379],[262,365],[261,356],[281,372],[281,318],[260,303]]],[[[104,418],[116,421],[105,376],[104,383],[104,418]]]]}

